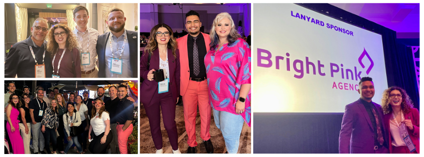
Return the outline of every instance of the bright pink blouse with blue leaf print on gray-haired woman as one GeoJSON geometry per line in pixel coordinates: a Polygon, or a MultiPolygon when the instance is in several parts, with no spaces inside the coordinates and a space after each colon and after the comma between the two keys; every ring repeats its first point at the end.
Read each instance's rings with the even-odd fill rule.
{"type": "MultiPolygon", "coordinates": [[[[219,47],[218,45],[216,47],[219,47]]],[[[242,84],[251,83],[251,54],[248,43],[238,38],[232,45],[209,50],[205,56],[209,101],[213,109],[235,115],[242,84]]],[[[245,112],[240,114],[250,127],[251,93],[245,101],[245,112]]]]}

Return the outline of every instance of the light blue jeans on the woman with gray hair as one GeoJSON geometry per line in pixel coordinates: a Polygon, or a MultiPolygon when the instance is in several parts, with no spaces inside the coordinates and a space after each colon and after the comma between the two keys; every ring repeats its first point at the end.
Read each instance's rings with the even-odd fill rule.
{"type": "Polygon", "coordinates": [[[243,117],[213,109],[213,119],[216,127],[221,130],[228,153],[236,154],[239,150],[240,135],[243,129],[243,117]]]}

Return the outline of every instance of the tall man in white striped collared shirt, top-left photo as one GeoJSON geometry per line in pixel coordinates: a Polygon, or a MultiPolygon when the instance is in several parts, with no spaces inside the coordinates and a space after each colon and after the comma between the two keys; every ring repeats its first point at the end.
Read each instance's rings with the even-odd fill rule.
{"type": "Polygon", "coordinates": [[[81,59],[81,77],[97,78],[99,71],[96,69],[97,37],[99,32],[94,28],[88,28],[88,9],[78,5],[73,10],[74,21],[77,24],[74,34],[78,41],[81,59]]]}

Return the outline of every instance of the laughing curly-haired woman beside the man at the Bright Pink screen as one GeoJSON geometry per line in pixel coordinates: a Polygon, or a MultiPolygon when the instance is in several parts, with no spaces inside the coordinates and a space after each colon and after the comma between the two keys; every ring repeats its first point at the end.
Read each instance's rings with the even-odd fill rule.
{"type": "Polygon", "coordinates": [[[394,154],[420,153],[420,114],[406,91],[390,87],[381,99],[384,125],[389,133],[389,150],[394,154]],[[404,139],[411,138],[416,150],[410,150],[404,139]]]}

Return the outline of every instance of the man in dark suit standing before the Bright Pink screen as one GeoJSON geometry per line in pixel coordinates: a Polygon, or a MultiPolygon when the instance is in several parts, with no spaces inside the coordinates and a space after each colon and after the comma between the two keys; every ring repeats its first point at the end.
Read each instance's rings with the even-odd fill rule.
{"type": "Polygon", "coordinates": [[[346,105],[339,136],[339,153],[389,153],[381,106],[372,102],[374,83],[370,77],[359,81],[359,100],[346,105]]]}

